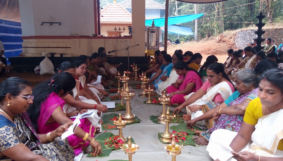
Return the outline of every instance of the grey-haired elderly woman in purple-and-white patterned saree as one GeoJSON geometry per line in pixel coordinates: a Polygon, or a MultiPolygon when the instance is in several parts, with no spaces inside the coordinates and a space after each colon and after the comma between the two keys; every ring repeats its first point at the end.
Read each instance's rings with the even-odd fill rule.
{"type": "MultiPolygon", "coordinates": [[[[213,103],[202,105],[205,114],[187,122],[187,127],[190,129],[198,122],[205,120],[208,131],[196,132],[199,137],[194,137],[195,142],[199,145],[207,145],[211,133],[216,129],[228,129],[238,132],[243,122],[243,116],[246,108],[251,100],[257,98],[257,90],[259,80],[256,72],[252,69],[243,69],[235,74],[235,91],[226,101],[219,106],[211,109],[213,103]]],[[[197,105],[193,105],[197,106],[197,105]]]]}

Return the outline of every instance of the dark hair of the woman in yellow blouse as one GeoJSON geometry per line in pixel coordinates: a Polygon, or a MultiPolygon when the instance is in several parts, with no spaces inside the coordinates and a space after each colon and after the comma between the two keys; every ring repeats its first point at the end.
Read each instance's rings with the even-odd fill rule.
{"type": "Polygon", "coordinates": [[[260,76],[259,80],[266,79],[271,84],[280,89],[281,93],[283,93],[283,69],[280,68],[272,68],[264,71],[260,76]]]}

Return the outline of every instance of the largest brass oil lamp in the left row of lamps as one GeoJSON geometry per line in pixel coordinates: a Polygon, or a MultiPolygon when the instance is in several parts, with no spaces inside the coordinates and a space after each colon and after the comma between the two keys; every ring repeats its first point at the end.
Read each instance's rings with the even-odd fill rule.
{"type": "Polygon", "coordinates": [[[126,120],[128,123],[136,121],[135,115],[131,113],[131,106],[130,106],[130,99],[133,98],[135,93],[129,93],[128,83],[126,83],[126,91],[123,92],[121,95],[122,98],[126,100],[126,114],[122,116],[123,120],[126,120]]]}

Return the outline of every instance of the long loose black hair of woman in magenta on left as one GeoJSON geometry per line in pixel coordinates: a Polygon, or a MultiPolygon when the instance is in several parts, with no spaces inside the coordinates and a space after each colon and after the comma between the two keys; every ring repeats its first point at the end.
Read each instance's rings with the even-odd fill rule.
{"type": "Polygon", "coordinates": [[[71,91],[76,86],[75,78],[68,72],[55,74],[50,80],[38,84],[32,90],[34,95],[33,104],[29,106],[28,114],[35,129],[38,128],[37,119],[40,115],[42,103],[47,101],[51,93],[59,94],[61,90],[65,93],[71,91]]]}

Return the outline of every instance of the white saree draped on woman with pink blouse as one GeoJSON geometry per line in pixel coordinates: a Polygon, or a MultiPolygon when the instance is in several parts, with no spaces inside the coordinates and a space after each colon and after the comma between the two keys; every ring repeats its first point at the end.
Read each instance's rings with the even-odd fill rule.
{"type": "MultiPolygon", "coordinates": [[[[189,95],[184,96],[184,98],[187,100],[193,93],[190,93],[189,95]]],[[[203,115],[203,111],[200,110],[196,112],[191,112],[190,109],[188,108],[189,106],[206,104],[212,101],[215,95],[218,93],[221,94],[221,97],[223,98],[223,100],[228,99],[228,97],[233,94],[231,87],[229,86],[227,82],[220,82],[216,84],[215,86],[208,88],[205,95],[203,95],[200,99],[198,99],[194,103],[186,106],[187,113],[192,115],[191,119],[195,119],[203,115]]],[[[203,126],[205,125],[205,121],[198,121],[197,123],[203,126]]]]}

